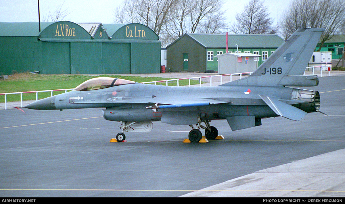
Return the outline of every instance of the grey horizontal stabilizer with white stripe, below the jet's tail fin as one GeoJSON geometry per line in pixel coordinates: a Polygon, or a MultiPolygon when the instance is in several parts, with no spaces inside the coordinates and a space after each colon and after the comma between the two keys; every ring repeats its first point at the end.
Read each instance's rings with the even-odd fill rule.
{"type": "Polygon", "coordinates": [[[278,99],[268,96],[259,95],[262,100],[277,114],[284,118],[300,121],[307,114],[306,112],[296,108],[295,106],[281,102],[278,99]]]}

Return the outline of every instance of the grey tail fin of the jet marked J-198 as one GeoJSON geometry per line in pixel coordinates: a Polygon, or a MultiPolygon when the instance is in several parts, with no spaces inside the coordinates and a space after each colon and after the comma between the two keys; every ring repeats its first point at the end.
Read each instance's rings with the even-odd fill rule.
{"type": "MultiPolygon", "coordinates": [[[[305,28],[296,30],[276,51],[274,51],[272,55],[270,55],[266,61],[259,66],[257,70],[252,73],[252,75],[223,85],[273,86],[285,85],[286,82],[289,81],[291,81],[289,83],[295,83],[293,81],[298,80],[293,79],[291,76],[303,75],[324,30],[325,29],[323,28],[305,28]],[[282,81],[284,81],[284,83],[282,81]]],[[[309,78],[306,79],[306,82],[309,82],[308,80],[312,78],[313,77],[309,76],[309,78]]],[[[315,80],[315,77],[313,79],[315,80]]],[[[291,86],[293,86],[293,84],[291,86]]]]}

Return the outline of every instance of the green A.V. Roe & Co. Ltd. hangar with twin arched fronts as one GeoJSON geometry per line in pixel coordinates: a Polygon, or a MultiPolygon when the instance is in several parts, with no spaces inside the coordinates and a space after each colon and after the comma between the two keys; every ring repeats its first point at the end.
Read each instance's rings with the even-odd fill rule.
{"type": "Polygon", "coordinates": [[[160,73],[160,41],[139,24],[0,22],[0,75],[160,73]]]}

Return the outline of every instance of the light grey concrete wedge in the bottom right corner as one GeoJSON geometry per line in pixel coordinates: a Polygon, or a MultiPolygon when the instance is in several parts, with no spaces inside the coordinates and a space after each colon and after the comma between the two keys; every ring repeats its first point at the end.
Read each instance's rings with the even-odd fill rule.
{"type": "Polygon", "coordinates": [[[345,149],[260,170],[180,197],[345,197],[345,149]]]}

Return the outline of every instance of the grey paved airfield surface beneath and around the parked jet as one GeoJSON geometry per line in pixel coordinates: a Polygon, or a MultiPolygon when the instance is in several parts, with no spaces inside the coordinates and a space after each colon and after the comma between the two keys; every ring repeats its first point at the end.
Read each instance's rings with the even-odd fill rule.
{"type": "MultiPolygon", "coordinates": [[[[119,123],[104,120],[99,109],[0,110],[0,196],[345,196],[345,166],[336,160],[345,149],[344,82],[344,76],[323,77],[319,86],[308,88],[321,92],[321,111],[330,116],[309,113],[300,122],[270,118],[234,132],[226,121],[212,121],[225,139],[208,143],[182,143],[189,126],[160,122],[149,133],[127,133],[127,142],[109,143],[119,123]],[[325,153],[326,159],[313,159],[325,153]],[[322,183],[315,168],[309,179],[295,171],[313,161],[318,169],[328,168],[322,183]],[[284,165],[293,166],[290,172],[299,180],[286,177],[264,192],[255,182],[260,179],[246,180],[262,171],[284,173],[284,165]],[[338,183],[327,180],[334,173],[338,183]],[[223,182],[235,182],[239,193],[228,194],[229,185],[218,189],[224,194],[200,191],[223,182]],[[300,189],[304,194],[288,193],[300,189]],[[285,194],[272,193],[279,190],[285,194]]],[[[266,181],[275,181],[269,176],[266,181]]]]}

